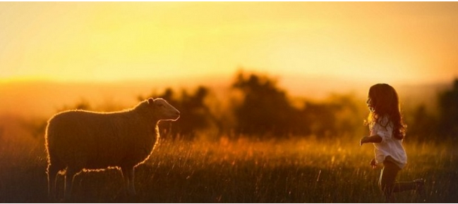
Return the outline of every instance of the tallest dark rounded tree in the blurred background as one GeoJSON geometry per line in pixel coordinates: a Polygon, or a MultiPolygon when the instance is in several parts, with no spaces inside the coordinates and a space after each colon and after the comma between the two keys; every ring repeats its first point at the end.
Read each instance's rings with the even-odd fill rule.
{"type": "Polygon", "coordinates": [[[285,136],[291,132],[295,110],[275,80],[254,74],[246,77],[241,72],[232,87],[243,94],[241,104],[234,108],[237,133],[285,136]]]}

